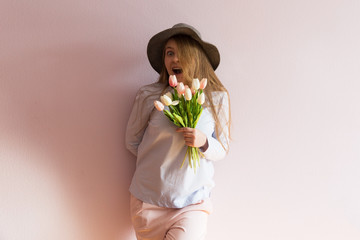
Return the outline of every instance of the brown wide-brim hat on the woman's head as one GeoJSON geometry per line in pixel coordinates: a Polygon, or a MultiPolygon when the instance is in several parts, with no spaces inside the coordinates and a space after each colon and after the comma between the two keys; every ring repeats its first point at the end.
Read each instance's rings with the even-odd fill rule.
{"type": "Polygon", "coordinates": [[[203,48],[211,66],[214,70],[216,70],[220,63],[220,53],[218,49],[214,45],[204,42],[201,39],[200,32],[194,27],[185,23],[179,23],[174,25],[172,28],[166,29],[154,35],[148,43],[147,55],[151,66],[155,69],[156,72],[160,73],[162,70],[163,50],[166,42],[169,40],[169,38],[175,35],[187,35],[197,41],[203,48]]]}

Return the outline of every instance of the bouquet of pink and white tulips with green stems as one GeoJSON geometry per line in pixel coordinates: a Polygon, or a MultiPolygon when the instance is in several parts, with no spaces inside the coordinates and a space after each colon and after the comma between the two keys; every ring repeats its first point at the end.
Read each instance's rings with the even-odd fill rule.
{"type": "MultiPolygon", "coordinates": [[[[195,128],[203,111],[202,104],[205,102],[203,89],[206,84],[206,78],[201,81],[195,78],[190,88],[182,82],[178,83],[176,76],[171,75],[169,85],[173,88],[173,92],[167,92],[160,97],[160,101],[155,101],[155,108],[163,111],[165,116],[176,126],[195,128]],[[168,109],[165,109],[164,105],[168,106],[168,109]]],[[[196,171],[196,165],[200,165],[200,154],[202,153],[199,148],[188,146],[181,167],[188,156],[190,167],[194,167],[194,171],[196,171]]]]}

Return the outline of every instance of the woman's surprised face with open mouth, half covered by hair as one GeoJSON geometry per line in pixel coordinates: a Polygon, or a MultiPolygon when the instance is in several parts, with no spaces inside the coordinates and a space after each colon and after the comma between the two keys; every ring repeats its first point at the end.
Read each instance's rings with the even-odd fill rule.
{"type": "Polygon", "coordinates": [[[179,50],[174,39],[169,39],[165,44],[165,67],[169,75],[176,75],[179,82],[183,82],[183,69],[178,58],[179,50]]]}

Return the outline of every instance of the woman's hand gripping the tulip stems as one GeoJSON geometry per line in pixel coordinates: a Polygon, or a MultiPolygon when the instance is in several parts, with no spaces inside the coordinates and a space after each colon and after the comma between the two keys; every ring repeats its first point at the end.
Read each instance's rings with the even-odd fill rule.
{"type": "Polygon", "coordinates": [[[184,136],[185,144],[189,147],[199,147],[205,152],[208,148],[206,135],[195,128],[178,128],[176,132],[181,132],[184,136]]]}

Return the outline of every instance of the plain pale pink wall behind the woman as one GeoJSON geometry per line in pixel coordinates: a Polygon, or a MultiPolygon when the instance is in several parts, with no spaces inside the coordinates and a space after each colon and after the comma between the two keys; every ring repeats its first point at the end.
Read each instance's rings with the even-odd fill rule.
{"type": "Polygon", "coordinates": [[[0,239],[133,240],[124,131],[155,33],[218,46],[208,240],[360,239],[360,1],[1,0],[0,239]]]}

